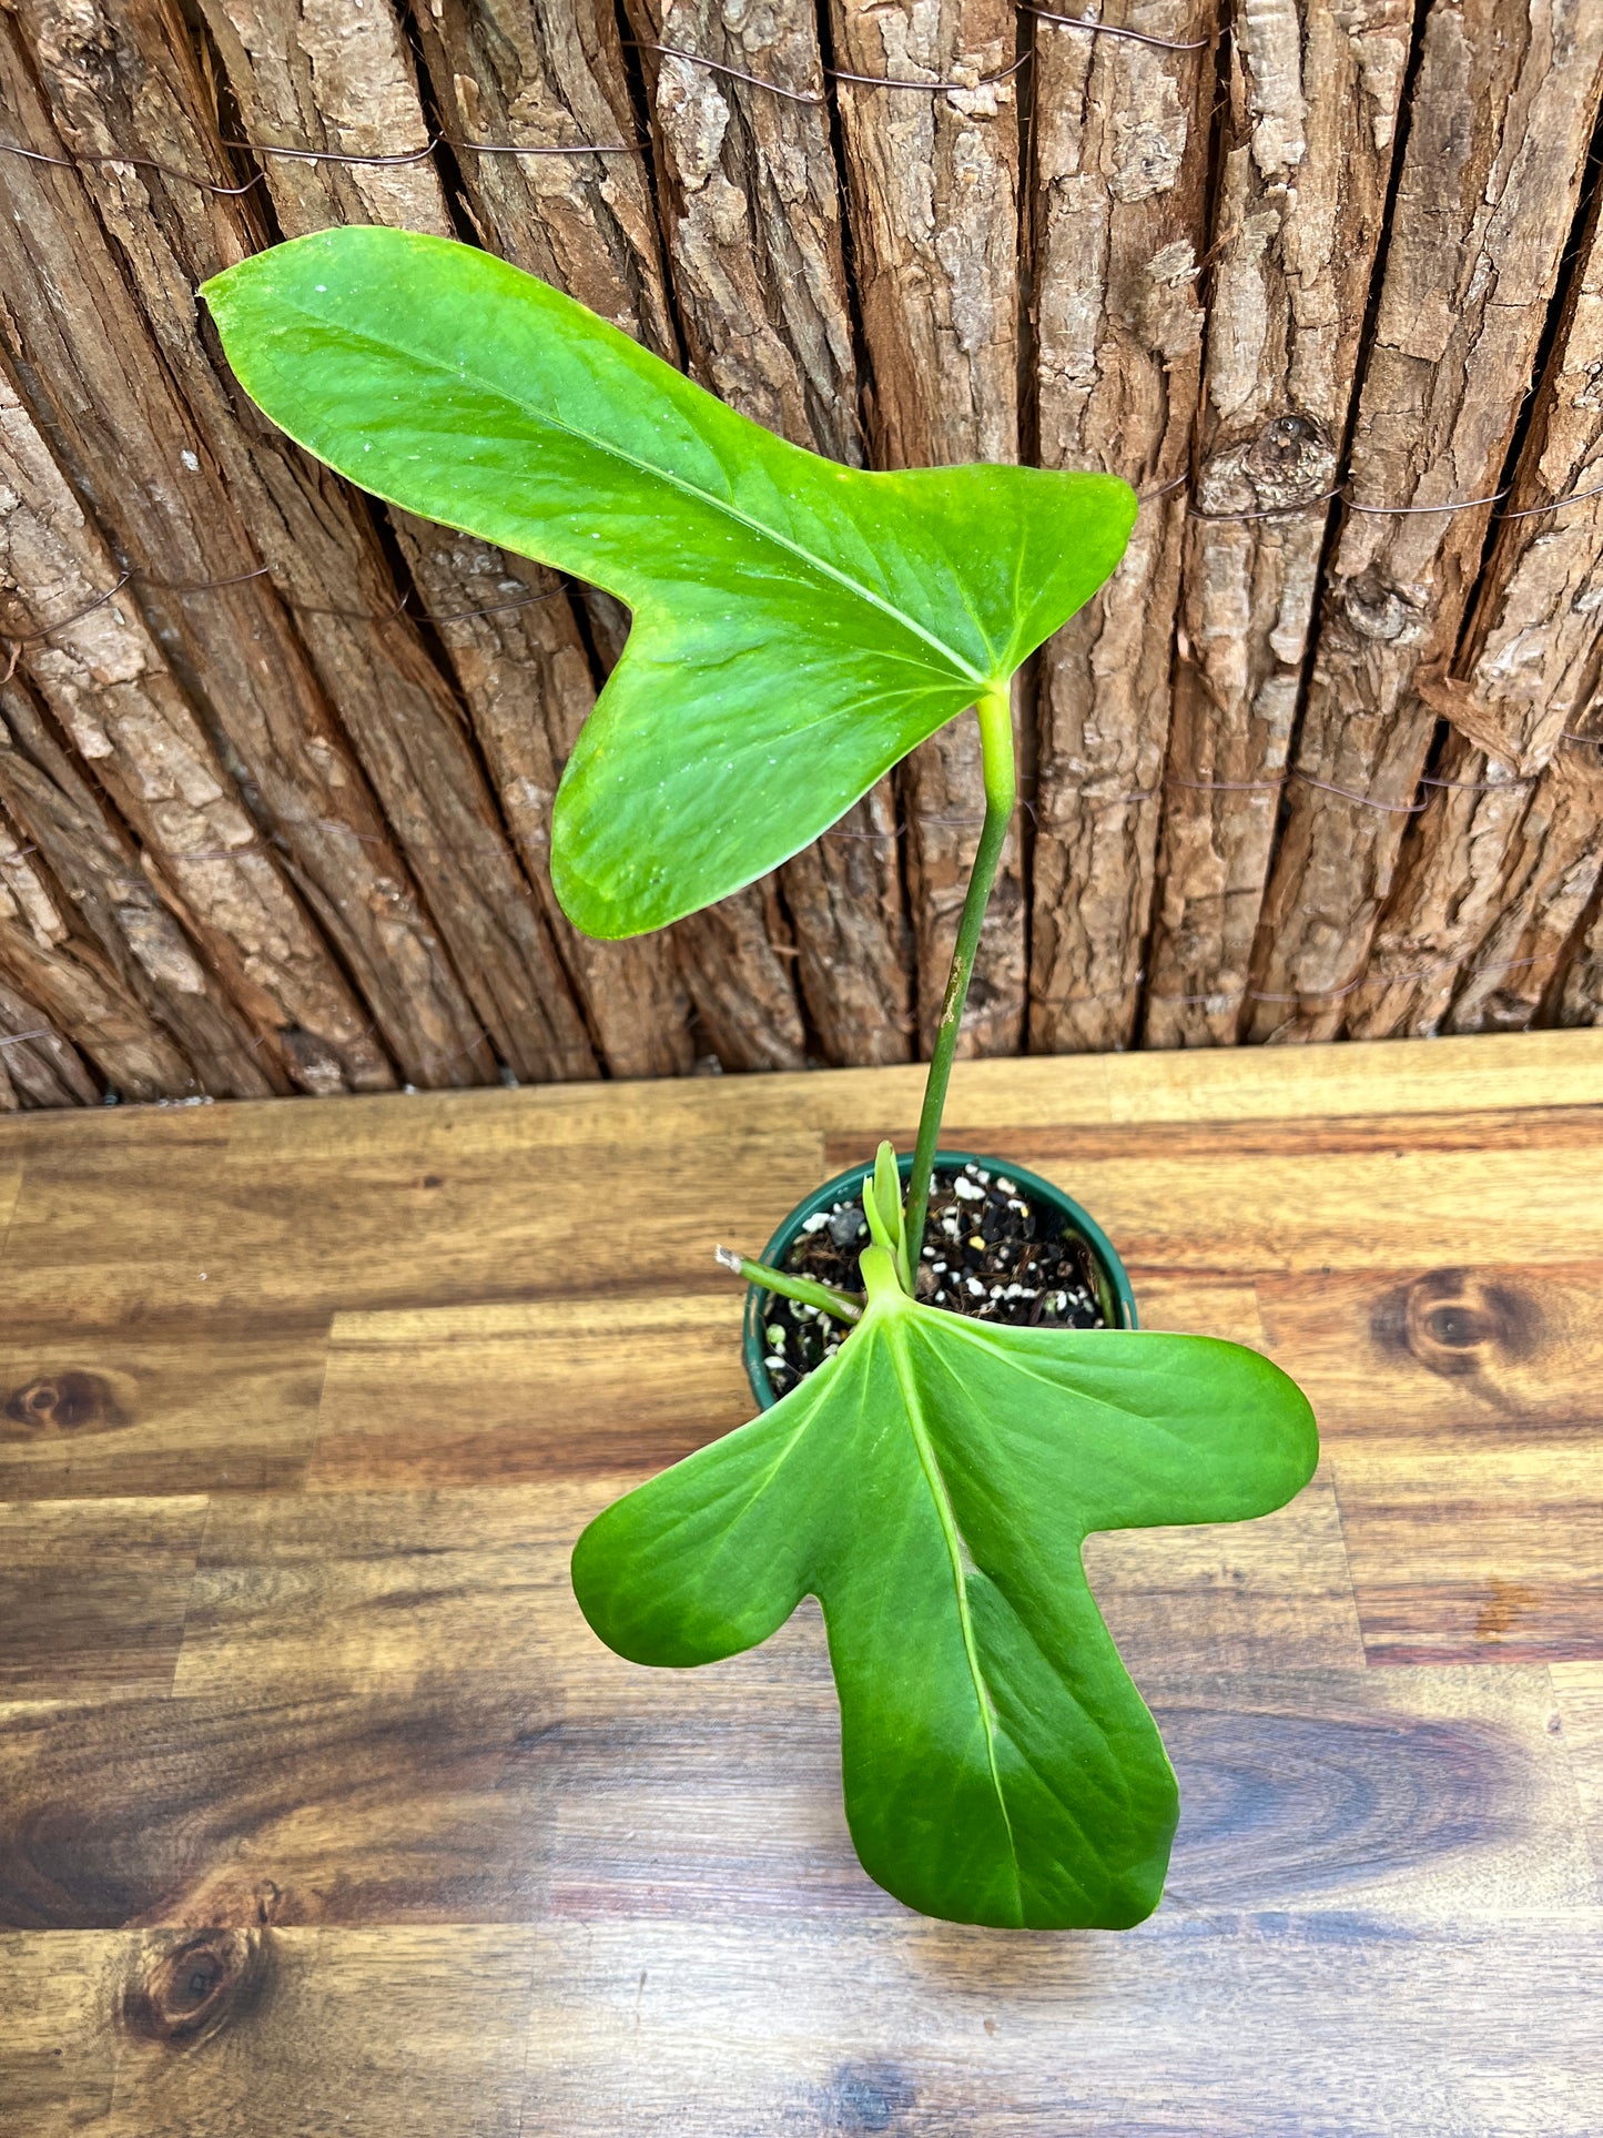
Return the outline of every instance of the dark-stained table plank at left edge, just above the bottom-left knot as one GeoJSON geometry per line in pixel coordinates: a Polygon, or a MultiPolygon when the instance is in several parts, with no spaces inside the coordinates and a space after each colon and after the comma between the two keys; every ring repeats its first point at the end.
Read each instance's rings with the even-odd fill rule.
{"type": "Polygon", "coordinates": [[[519,1676],[0,1710],[0,1924],[534,1922],[562,1713],[519,1676]]]}

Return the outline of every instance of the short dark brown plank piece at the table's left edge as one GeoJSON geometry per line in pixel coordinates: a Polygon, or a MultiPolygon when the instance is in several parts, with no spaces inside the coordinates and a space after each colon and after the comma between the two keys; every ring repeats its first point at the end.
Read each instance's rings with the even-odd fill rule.
{"type": "Polygon", "coordinates": [[[0,1505],[0,1695],[165,1691],[203,1499],[0,1505]]]}

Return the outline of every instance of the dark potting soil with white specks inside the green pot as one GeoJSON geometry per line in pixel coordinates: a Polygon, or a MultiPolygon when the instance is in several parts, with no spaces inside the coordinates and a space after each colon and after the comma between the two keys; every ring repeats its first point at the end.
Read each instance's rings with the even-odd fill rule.
{"type": "MultiPolygon", "coordinates": [[[[861,1195],[808,1219],[784,1268],[836,1291],[861,1291],[857,1257],[868,1244],[861,1195]]],[[[1109,1323],[1105,1279],[1090,1246],[1054,1208],[1037,1204],[1007,1169],[936,1167],[923,1227],[917,1296],[975,1321],[1043,1330],[1101,1330],[1109,1323]]],[[[849,1323],[799,1300],[763,1293],[767,1379],[776,1396],[831,1358],[849,1323]]]]}

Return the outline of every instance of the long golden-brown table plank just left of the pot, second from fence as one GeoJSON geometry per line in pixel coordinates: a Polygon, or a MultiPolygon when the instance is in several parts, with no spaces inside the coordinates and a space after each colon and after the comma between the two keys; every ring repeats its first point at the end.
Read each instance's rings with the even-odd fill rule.
{"type": "Polygon", "coordinates": [[[727,1283],[712,1259],[718,1238],[761,1246],[823,1178],[808,1129],[759,1140],[731,1127],[667,1148],[530,1146],[513,1133],[498,1150],[464,1152],[430,1133],[436,1122],[421,1107],[391,1118],[389,1140],[365,1148],[314,1146],[291,1159],[246,1146],[222,1165],[199,1155],[171,1174],[165,1157],[137,1150],[122,1165],[94,1152],[36,1161],[9,1264],[53,1276],[58,1321],[79,1293],[90,1315],[103,1308],[103,1264],[143,1257],[171,1270],[173,1311],[203,1293],[205,1313],[301,1319],[650,1281],[710,1289],[727,1283]],[[598,1223],[607,1206],[618,1219],[598,1223]],[[637,1234],[633,1210],[650,1212],[637,1234]]]}

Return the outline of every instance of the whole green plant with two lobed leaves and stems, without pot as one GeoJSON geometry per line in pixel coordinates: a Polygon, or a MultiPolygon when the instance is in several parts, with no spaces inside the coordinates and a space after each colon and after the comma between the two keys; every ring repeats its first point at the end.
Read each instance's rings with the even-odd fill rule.
{"type": "Polygon", "coordinates": [[[861,1291],[761,1417],[579,1537],[635,1663],[767,1640],[814,1595],[868,1873],[958,1922],[1122,1928],[1163,1892],[1176,1777],[1081,1569],[1088,1533],[1267,1514],[1310,1477],[1297,1388],[1208,1336],[1020,1328],[917,1296],[947,1078],[1015,808],[1011,678],[1124,552],[1107,475],[840,468],[470,246],[342,229],[205,284],[242,385],[353,481],[616,594],[633,626],[556,797],[596,936],[776,868],[970,708],[985,823],[906,1191],[863,1180],[861,1291]]]}

